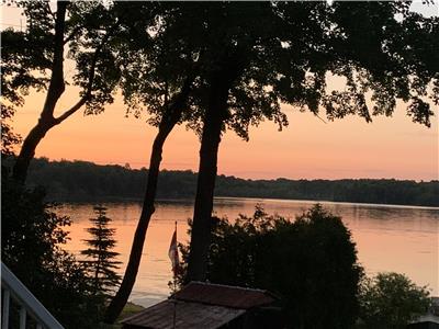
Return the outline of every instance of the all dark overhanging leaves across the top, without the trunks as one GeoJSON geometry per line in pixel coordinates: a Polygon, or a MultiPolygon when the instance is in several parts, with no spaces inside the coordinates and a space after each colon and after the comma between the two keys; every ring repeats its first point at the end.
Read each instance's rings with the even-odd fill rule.
{"type": "MultiPolygon", "coordinates": [[[[27,26],[2,31],[2,90],[22,104],[29,88],[47,86],[54,20],[48,1],[18,3],[27,26]]],[[[409,4],[72,2],[65,37],[76,65],[71,82],[82,95],[90,92],[86,113],[102,112],[120,87],[128,111],[146,107],[158,124],[192,75],[182,121],[201,133],[212,73],[233,58],[239,72],[223,128],[245,139],[263,120],[286,125],[282,103],[316,115],[324,110],[329,120],[357,114],[370,122],[392,115],[401,99],[414,122],[429,126],[439,102],[439,18],[424,18],[409,4]],[[334,88],[333,77],[344,88],[334,88]]]]}

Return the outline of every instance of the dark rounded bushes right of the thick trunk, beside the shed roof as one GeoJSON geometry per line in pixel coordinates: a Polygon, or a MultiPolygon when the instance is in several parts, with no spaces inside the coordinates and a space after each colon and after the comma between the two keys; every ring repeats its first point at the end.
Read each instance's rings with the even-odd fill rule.
{"type": "MultiPolygon", "coordinates": [[[[281,324],[272,328],[404,329],[430,305],[428,291],[402,274],[367,277],[350,231],[318,204],[295,220],[257,206],[212,226],[207,280],[274,293],[281,324]]],[[[189,249],[180,245],[180,283],[189,249]]]]}

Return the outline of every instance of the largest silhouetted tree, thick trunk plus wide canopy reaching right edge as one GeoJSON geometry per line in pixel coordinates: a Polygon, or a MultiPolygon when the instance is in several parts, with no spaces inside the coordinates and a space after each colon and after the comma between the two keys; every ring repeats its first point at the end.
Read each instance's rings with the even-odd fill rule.
{"type": "MultiPolygon", "coordinates": [[[[206,277],[213,191],[221,136],[227,125],[247,137],[262,116],[280,126],[280,103],[329,120],[349,114],[372,121],[408,102],[414,122],[430,125],[426,101],[439,103],[438,18],[409,11],[409,2],[203,3],[209,100],[202,137],[188,280],[206,277]],[[329,77],[345,79],[331,90],[329,77]],[[431,88],[429,89],[429,86],[431,88]],[[368,104],[367,94],[372,104],[368,104]],[[256,98],[255,98],[256,95],[256,98]]],[[[196,25],[196,23],[194,23],[196,25]]]]}

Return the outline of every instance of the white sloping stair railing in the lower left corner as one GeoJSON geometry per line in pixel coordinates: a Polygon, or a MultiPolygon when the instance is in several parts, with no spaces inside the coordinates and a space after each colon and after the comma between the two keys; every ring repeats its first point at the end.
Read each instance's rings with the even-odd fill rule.
{"type": "Polygon", "coordinates": [[[3,291],[1,328],[9,329],[11,298],[20,306],[20,329],[26,328],[27,315],[36,321],[37,329],[64,329],[23,283],[1,263],[1,288],[3,291]]]}

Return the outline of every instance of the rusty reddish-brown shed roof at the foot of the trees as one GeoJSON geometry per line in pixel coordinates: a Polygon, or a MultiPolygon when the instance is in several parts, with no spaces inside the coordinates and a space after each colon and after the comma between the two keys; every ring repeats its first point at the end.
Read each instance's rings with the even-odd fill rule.
{"type": "Polygon", "coordinates": [[[223,306],[203,305],[168,299],[156,304],[121,322],[136,328],[172,329],[173,310],[176,307],[176,328],[216,329],[245,313],[223,306]]]}

